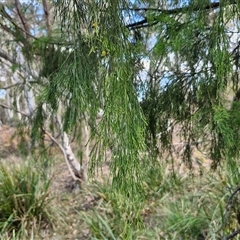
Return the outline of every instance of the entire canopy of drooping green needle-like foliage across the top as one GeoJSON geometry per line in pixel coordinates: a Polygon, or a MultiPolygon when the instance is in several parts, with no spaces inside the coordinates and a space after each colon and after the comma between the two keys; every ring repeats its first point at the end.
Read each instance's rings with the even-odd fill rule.
{"type": "Polygon", "coordinates": [[[90,168],[110,147],[113,186],[131,195],[150,166],[145,153],[170,150],[174,126],[190,164],[193,145],[213,166],[239,156],[237,1],[50,1],[37,34],[29,19],[41,3],[16,3],[0,5],[13,54],[0,57],[37,96],[33,137],[49,114],[60,114],[68,133],[85,119],[96,139],[90,168]],[[14,60],[19,52],[27,64],[14,60]]]}

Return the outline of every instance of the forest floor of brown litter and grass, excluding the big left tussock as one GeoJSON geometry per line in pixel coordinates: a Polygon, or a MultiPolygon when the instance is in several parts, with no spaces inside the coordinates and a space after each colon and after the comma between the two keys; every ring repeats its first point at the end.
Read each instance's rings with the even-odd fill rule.
{"type": "MultiPolygon", "coordinates": [[[[22,156],[19,149],[21,139],[14,137],[15,133],[14,127],[0,126],[0,160],[11,166],[33,160],[31,157],[22,156]]],[[[176,146],[177,141],[176,137],[176,146]]],[[[227,197],[240,180],[236,177],[235,168],[231,169],[228,166],[213,173],[210,169],[210,159],[194,150],[192,157],[194,171],[190,171],[178,159],[178,152],[181,149],[177,147],[175,151],[174,164],[177,175],[170,174],[171,164],[163,164],[149,174],[145,182],[144,203],[140,210],[144,226],[137,229],[132,227],[130,232],[126,232],[128,226],[124,220],[126,209],[114,204],[119,201],[119,196],[109,194],[108,165],[99,168],[100,174],[94,176],[81,189],[75,189],[61,152],[52,146],[47,156],[41,158],[41,166],[48,169],[48,175],[52,178],[51,205],[59,217],[54,228],[41,228],[32,234],[31,238],[26,235],[24,239],[23,237],[1,239],[203,240],[219,239],[223,233],[235,230],[238,221],[233,219],[230,226],[217,231],[222,226],[227,197]],[[193,172],[194,178],[191,174],[193,172]],[[160,220],[162,218],[165,220],[160,220]]],[[[33,161],[38,159],[34,158],[33,161]]]]}

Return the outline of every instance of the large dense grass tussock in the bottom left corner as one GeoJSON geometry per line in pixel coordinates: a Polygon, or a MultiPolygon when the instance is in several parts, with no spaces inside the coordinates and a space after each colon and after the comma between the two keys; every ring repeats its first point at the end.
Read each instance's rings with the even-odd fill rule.
{"type": "Polygon", "coordinates": [[[52,228],[51,179],[36,164],[0,164],[1,239],[30,239],[40,228],[52,228]]]}

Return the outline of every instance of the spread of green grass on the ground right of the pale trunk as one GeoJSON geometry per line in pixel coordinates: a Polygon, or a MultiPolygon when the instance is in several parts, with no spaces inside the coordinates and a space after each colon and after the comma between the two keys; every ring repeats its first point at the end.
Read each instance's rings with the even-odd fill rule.
{"type": "Polygon", "coordinates": [[[136,203],[136,212],[128,212],[131,199],[123,203],[102,184],[93,188],[101,200],[78,214],[90,229],[88,239],[224,239],[239,227],[239,198],[234,198],[228,212],[226,208],[239,180],[237,162],[199,176],[166,173],[158,165],[147,174],[145,197],[136,203]]]}

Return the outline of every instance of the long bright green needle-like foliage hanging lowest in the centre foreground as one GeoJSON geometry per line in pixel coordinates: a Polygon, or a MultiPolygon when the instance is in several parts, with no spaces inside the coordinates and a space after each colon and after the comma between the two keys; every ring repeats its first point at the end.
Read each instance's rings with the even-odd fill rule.
{"type": "Polygon", "coordinates": [[[100,153],[93,150],[90,168],[104,160],[101,152],[110,147],[113,186],[130,197],[141,192],[146,148],[145,118],[133,84],[137,48],[129,41],[130,33],[119,11],[126,4],[57,2],[66,60],[51,75],[41,101],[51,112],[61,109],[65,131],[76,127],[82,118],[93,122],[103,109],[101,122],[92,131],[101,149],[100,153]],[[61,108],[60,103],[66,107],[61,108]]]}

